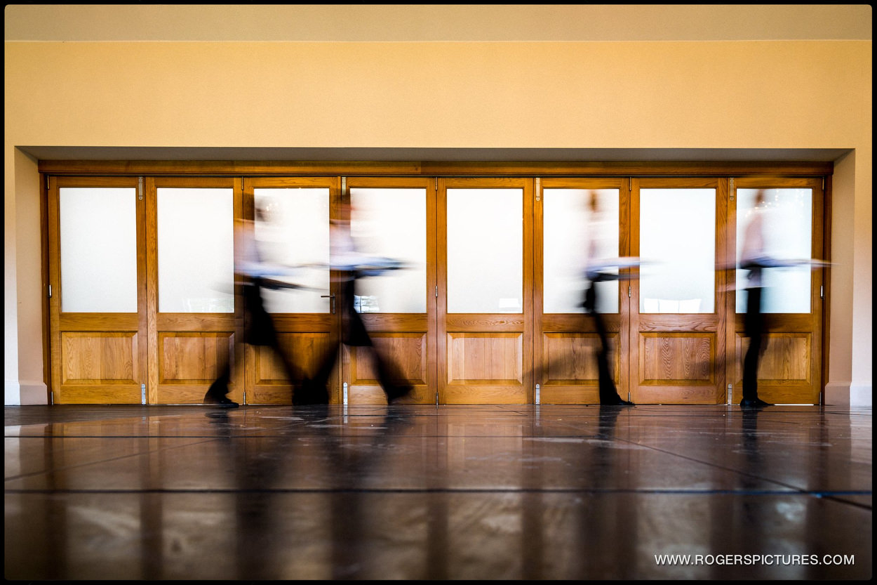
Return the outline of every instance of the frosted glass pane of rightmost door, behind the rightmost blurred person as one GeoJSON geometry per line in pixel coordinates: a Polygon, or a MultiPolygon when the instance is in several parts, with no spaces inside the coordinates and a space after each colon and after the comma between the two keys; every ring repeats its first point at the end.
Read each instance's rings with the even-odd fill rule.
{"type": "MultiPolygon", "coordinates": [[[[737,259],[743,249],[746,226],[755,213],[758,189],[737,190],[737,259]]],[[[810,189],[766,189],[763,236],[765,253],[778,259],[803,260],[811,256],[813,191],[810,189]]],[[[738,270],[738,285],[746,284],[749,271],[738,270]]],[[[809,266],[769,268],[761,271],[763,313],[810,312],[809,266]]],[[[737,312],[746,312],[746,292],[738,290],[737,312]]]]}

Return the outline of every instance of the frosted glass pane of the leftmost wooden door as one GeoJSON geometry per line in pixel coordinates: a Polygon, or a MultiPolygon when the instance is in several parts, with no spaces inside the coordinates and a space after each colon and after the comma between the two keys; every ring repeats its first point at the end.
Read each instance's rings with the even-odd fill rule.
{"type": "Polygon", "coordinates": [[[137,313],[137,190],[61,187],[61,311],[137,313]]]}

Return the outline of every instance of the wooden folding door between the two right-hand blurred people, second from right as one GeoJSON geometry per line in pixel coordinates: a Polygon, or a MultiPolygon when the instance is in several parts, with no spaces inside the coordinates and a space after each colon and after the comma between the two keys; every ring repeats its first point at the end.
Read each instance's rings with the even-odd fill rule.
{"type": "Polygon", "coordinates": [[[631,180],[630,388],[638,404],[726,401],[728,180],[631,180]]]}

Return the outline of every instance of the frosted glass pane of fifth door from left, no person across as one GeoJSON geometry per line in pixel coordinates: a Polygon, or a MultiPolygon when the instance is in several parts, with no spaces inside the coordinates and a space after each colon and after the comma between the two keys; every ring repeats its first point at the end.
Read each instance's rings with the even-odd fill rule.
{"type": "Polygon", "coordinates": [[[447,190],[447,312],[524,312],[524,191],[447,190]]]}

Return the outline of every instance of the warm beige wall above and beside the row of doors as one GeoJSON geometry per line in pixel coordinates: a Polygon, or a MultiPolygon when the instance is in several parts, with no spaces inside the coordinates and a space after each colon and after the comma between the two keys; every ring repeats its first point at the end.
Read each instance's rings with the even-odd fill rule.
{"type": "Polygon", "coordinates": [[[35,167],[17,146],[852,149],[829,381],[870,404],[870,40],[7,42],[4,58],[7,404],[42,364],[24,341],[39,328],[35,167]]]}

